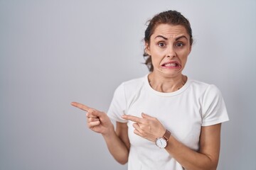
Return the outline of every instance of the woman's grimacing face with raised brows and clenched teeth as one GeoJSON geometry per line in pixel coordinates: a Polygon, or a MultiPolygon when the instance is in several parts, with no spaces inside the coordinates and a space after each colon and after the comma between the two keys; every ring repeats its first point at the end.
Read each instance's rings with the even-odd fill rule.
{"type": "Polygon", "coordinates": [[[146,43],[155,73],[164,77],[181,75],[191,52],[189,35],[183,26],[160,24],[146,43]]]}

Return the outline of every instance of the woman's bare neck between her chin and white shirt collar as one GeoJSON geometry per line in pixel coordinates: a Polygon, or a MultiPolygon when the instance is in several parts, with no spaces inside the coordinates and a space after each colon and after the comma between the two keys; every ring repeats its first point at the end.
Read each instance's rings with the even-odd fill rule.
{"type": "Polygon", "coordinates": [[[154,72],[151,72],[148,79],[152,89],[163,93],[170,93],[181,89],[186,83],[187,77],[183,74],[176,77],[161,77],[156,76],[154,72]]]}

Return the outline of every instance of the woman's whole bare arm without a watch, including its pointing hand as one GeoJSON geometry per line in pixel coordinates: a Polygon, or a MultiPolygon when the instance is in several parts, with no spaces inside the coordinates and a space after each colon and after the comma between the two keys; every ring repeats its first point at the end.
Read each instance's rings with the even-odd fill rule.
{"type": "Polygon", "coordinates": [[[72,106],[86,111],[87,126],[94,132],[102,134],[110,153],[120,164],[126,164],[129,154],[127,123],[117,123],[117,132],[106,113],[73,102],[72,106]]]}

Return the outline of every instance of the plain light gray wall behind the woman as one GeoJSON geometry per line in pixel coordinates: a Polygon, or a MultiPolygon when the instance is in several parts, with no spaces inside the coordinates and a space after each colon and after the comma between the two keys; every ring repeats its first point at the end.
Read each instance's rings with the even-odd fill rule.
{"type": "Polygon", "coordinates": [[[127,169],[86,127],[79,101],[107,111],[114,89],[147,74],[146,21],[181,11],[195,44],[184,74],[215,84],[218,169],[255,169],[256,1],[0,0],[0,169],[127,169]]]}

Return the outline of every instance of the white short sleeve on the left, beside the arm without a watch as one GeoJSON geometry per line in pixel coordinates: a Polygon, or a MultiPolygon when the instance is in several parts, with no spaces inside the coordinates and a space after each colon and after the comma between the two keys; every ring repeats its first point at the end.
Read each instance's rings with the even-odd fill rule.
{"type": "Polygon", "coordinates": [[[110,117],[110,119],[121,123],[127,123],[127,120],[122,118],[122,115],[124,115],[126,111],[126,101],[124,83],[122,83],[114,91],[114,96],[112,98],[112,102],[110,103],[110,108],[107,111],[107,115],[110,117]]]}

